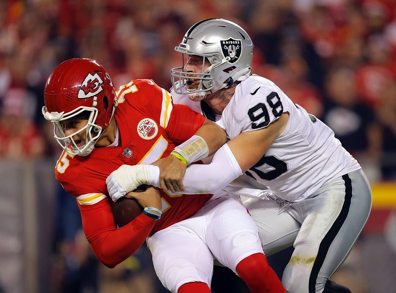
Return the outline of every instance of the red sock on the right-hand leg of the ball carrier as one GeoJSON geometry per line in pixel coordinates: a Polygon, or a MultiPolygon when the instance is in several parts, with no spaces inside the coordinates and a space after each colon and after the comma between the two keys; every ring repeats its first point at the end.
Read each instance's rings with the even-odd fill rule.
{"type": "Polygon", "coordinates": [[[237,272],[251,293],[286,293],[281,280],[263,253],[255,253],[238,264],[237,272]]]}

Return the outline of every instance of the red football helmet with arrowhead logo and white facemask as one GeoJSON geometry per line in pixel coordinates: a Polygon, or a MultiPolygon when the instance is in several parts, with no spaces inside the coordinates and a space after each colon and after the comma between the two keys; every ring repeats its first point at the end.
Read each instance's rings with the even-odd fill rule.
{"type": "Polygon", "coordinates": [[[88,155],[109,125],[117,98],[109,73],[91,59],[69,59],[58,65],[44,89],[43,115],[54,124],[54,137],[71,155],[88,155]],[[84,112],[84,113],[83,113],[84,112]],[[88,114],[88,123],[66,136],[62,121],[88,114]],[[78,147],[72,136],[86,132],[86,143],[78,147]]]}

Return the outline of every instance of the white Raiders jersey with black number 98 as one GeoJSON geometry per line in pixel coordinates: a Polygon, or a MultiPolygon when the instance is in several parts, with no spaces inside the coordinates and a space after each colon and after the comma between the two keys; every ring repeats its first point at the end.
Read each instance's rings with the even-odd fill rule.
{"type": "MultiPolygon", "coordinates": [[[[172,95],[175,103],[185,104],[188,100],[172,95]]],[[[315,195],[330,180],[361,168],[330,127],[294,104],[264,77],[252,75],[238,84],[217,123],[233,139],[242,132],[267,127],[284,112],[289,113],[285,130],[245,174],[278,197],[298,202],[315,195]]]]}

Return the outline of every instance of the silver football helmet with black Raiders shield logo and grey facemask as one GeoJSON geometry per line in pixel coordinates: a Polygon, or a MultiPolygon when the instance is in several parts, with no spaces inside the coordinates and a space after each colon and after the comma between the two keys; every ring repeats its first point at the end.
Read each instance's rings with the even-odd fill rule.
{"type": "Polygon", "coordinates": [[[175,51],[182,54],[182,66],[171,69],[173,88],[176,93],[188,94],[190,99],[199,101],[207,94],[246,79],[252,65],[253,42],[232,21],[207,19],[194,24],[175,51]],[[184,71],[184,54],[202,57],[201,72],[184,71]],[[206,69],[205,59],[211,64],[206,69]],[[198,86],[189,88],[191,84],[198,86]]]}

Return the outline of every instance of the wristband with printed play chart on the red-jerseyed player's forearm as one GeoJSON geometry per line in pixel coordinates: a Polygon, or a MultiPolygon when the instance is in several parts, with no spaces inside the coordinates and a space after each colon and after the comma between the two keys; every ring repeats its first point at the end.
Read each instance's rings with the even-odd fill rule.
{"type": "Polygon", "coordinates": [[[202,160],[209,155],[208,144],[198,135],[193,135],[184,143],[176,146],[174,151],[185,159],[187,165],[202,160]]]}

